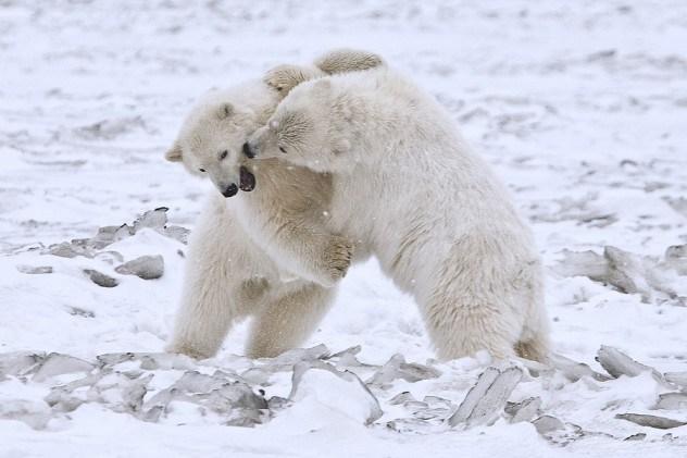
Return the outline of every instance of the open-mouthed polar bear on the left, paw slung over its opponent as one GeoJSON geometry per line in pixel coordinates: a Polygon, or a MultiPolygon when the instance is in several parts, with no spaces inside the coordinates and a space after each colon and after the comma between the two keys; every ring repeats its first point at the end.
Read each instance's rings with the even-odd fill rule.
{"type": "Polygon", "coordinates": [[[211,91],[191,110],[165,158],[209,177],[220,193],[190,238],[170,351],[211,357],[234,321],[253,317],[247,354],[272,357],[321,321],[351,262],[351,244],[326,228],[332,177],[279,159],[243,164],[241,147],[283,86],[380,64],[376,54],[337,50],[315,65],[283,65],[264,79],[211,91]]]}

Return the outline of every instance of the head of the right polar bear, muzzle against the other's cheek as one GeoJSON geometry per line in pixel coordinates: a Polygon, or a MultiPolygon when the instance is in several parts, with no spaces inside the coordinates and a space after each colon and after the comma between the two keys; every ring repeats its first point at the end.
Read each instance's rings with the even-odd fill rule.
{"type": "Polygon", "coordinates": [[[329,78],[302,83],[249,137],[243,152],[251,159],[282,158],[315,172],[340,172],[352,159],[350,109],[329,78]]]}

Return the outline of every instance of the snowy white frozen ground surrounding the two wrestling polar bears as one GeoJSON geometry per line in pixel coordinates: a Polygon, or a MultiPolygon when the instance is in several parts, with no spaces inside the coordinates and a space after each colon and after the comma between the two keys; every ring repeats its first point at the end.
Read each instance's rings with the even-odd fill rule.
{"type": "Polygon", "coordinates": [[[687,426],[615,418],[687,421],[686,253],[664,258],[687,244],[685,42],[679,0],[0,1],[0,457],[687,456],[687,426]],[[197,364],[155,355],[176,238],[152,224],[93,258],[45,253],[163,206],[192,228],[207,188],[162,160],[189,103],[337,46],[380,52],[435,94],[511,186],[548,267],[555,350],[605,373],[595,356],[609,345],[655,372],[525,370],[509,398],[540,399],[525,421],[496,405],[492,425],[451,428],[489,361],[433,361],[412,301],[374,262],[308,343],[357,355],[250,361],[235,356],[239,327],[197,364]],[[163,257],[161,278],[114,270],[143,255],[163,257]],[[136,355],[102,357],[123,351],[136,355]],[[396,354],[419,366],[379,368],[396,354]]]}

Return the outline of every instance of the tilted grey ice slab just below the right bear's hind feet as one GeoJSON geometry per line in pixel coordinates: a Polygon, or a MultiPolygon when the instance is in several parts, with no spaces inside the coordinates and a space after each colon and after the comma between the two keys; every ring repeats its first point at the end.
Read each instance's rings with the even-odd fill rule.
{"type": "Polygon", "coordinates": [[[509,396],[523,377],[520,368],[487,368],[477,379],[458,410],[448,419],[451,426],[491,424],[505,407],[509,396]]]}

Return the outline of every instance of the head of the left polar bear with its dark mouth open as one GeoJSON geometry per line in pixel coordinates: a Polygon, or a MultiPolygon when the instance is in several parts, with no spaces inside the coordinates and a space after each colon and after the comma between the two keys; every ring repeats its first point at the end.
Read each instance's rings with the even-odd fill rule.
{"type": "Polygon", "coordinates": [[[234,103],[232,94],[210,91],[184,121],[165,159],[182,162],[191,174],[209,177],[224,197],[253,190],[255,177],[241,152],[257,124],[250,111],[234,103]]]}

